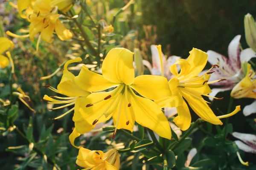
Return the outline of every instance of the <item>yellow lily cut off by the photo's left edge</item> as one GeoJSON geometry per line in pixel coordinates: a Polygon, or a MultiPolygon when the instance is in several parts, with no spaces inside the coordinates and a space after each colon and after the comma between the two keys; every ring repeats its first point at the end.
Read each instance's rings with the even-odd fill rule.
{"type": "Polygon", "coordinates": [[[9,40],[6,37],[0,37],[0,68],[2,69],[6,68],[9,65],[9,59],[13,65],[11,54],[9,51],[7,51],[13,48],[14,48],[14,44],[11,40],[9,40]],[[7,51],[6,55],[9,59],[4,55],[2,55],[5,51],[7,51]]]}

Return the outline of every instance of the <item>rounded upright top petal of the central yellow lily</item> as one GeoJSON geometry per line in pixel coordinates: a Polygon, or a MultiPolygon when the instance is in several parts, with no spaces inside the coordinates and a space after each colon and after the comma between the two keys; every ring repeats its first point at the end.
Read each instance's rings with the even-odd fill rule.
{"type": "Polygon", "coordinates": [[[102,63],[102,75],[110,82],[131,85],[134,82],[133,52],[111,49],[102,63]]]}

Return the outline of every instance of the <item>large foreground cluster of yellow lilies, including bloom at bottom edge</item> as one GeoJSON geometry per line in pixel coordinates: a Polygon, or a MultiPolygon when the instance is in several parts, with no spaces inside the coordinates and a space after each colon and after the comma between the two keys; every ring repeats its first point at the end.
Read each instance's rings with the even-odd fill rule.
{"type": "MultiPolygon", "coordinates": [[[[70,135],[73,146],[75,146],[76,137],[89,132],[96,124],[111,118],[115,126],[112,139],[116,136],[117,129],[127,129],[132,132],[135,122],[154,130],[163,138],[171,139],[171,128],[161,108],[176,107],[178,116],[175,117],[174,122],[181,130],[187,130],[191,123],[187,103],[201,119],[215,125],[222,125],[220,119],[236,114],[240,111],[240,106],[230,114],[215,116],[207,105],[209,102],[202,96],[209,96],[208,94],[211,93],[208,84],[224,79],[209,82],[209,77],[213,73],[211,69],[218,65],[213,65],[205,74],[198,76],[207,63],[207,54],[196,48],[189,53],[187,59],[178,59],[170,67],[174,77],[169,82],[161,76],[135,77],[134,53],[125,48],[113,48],[108,52],[102,63],[102,75],[90,71],[85,65],[82,66],[78,76],[73,75],[68,71],[68,65],[81,61],[81,58],[71,59],[64,65],[63,77],[57,89],[48,86],[52,91],[68,97],[45,95],[44,100],[53,104],[64,104],[58,108],[74,105],[70,111],[55,118],[58,119],[74,111],[75,128],[70,135]],[[180,66],[180,72],[177,71],[177,65],[180,66]],[[104,92],[106,90],[107,92],[104,92]]],[[[79,166],[90,169],[90,167],[108,165],[102,159],[91,161],[89,153],[96,154],[90,157],[97,159],[103,158],[105,154],[102,151],[80,148],[77,158],[79,166]],[[90,165],[87,164],[88,160],[90,165]]],[[[113,157],[117,160],[116,156],[113,157]]],[[[114,162],[113,159],[110,164],[114,162]]]]}

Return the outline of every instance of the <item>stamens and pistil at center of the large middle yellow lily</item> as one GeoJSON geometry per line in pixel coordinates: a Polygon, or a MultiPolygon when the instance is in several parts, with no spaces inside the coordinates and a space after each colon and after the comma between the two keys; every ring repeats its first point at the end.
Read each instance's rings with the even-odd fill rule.
{"type": "Polygon", "coordinates": [[[91,107],[91,106],[95,105],[96,103],[99,103],[99,102],[102,102],[105,100],[109,100],[108,106],[105,108],[103,113],[98,117],[98,119],[95,119],[92,122],[92,125],[95,125],[103,115],[105,115],[105,117],[108,117],[109,115],[111,115],[111,113],[113,113],[116,109],[118,109],[116,128],[115,128],[115,131],[112,136],[112,139],[114,139],[116,136],[116,130],[117,130],[119,117],[120,117],[120,113],[121,113],[123,104],[125,105],[124,108],[125,108],[126,125],[129,125],[129,123],[130,123],[130,121],[128,120],[128,115],[127,115],[127,107],[131,107],[131,103],[128,101],[128,85],[120,84],[116,89],[114,89],[112,91],[111,94],[109,94],[108,96],[106,96],[103,99],[100,99],[99,101],[87,104],[86,108],[91,107]],[[112,108],[111,108],[111,106],[112,106],[112,108]]]}

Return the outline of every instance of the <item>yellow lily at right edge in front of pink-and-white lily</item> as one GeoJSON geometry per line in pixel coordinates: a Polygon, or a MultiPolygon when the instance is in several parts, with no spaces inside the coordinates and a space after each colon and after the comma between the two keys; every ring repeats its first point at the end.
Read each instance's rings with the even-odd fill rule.
{"type": "Polygon", "coordinates": [[[230,96],[235,99],[240,98],[253,98],[256,99],[256,79],[253,79],[255,72],[251,70],[251,65],[247,64],[246,76],[235,85],[232,89],[230,96]]]}

